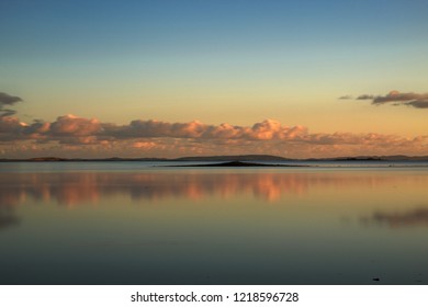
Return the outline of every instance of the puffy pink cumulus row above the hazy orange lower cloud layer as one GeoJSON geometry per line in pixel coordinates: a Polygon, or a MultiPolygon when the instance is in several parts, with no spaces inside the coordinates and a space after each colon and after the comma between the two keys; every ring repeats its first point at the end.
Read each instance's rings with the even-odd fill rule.
{"type": "Polygon", "coordinates": [[[198,121],[168,123],[154,120],[135,120],[128,125],[115,125],[71,114],[59,116],[52,123],[36,121],[32,124],[21,123],[16,117],[4,117],[0,120],[0,127],[3,139],[8,136],[18,139],[48,138],[61,143],[69,140],[72,144],[88,137],[105,140],[140,138],[288,140],[303,138],[307,134],[303,126],[283,126],[273,120],[266,120],[252,126],[234,126],[226,123],[206,125],[198,121]]]}

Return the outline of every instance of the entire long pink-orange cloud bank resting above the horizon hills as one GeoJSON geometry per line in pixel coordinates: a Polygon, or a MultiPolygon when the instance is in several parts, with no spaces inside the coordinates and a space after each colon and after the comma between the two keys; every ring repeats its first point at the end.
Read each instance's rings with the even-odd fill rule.
{"type": "Polygon", "coordinates": [[[188,155],[267,154],[294,158],[427,155],[428,136],[309,133],[264,120],[250,126],[135,120],[126,125],[64,115],[26,124],[0,117],[0,155],[11,157],[179,157],[188,155]]]}

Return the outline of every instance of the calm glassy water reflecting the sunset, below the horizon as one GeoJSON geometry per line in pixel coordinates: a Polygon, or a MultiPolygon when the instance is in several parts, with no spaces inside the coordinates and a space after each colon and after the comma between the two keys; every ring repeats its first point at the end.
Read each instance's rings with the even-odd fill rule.
{"type": "Polygon", "coordinates": [[[428,284],[427,168],[151,166],[0,163],[0,284],[428,284]]]}

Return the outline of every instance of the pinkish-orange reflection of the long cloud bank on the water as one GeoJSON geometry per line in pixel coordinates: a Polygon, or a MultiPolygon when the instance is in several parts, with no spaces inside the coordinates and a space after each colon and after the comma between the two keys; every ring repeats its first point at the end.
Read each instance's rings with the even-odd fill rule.
{"type": "Polygon", "coordinates": [[[0,173],[0,204],[16,205],[32,197],[74,206],[95,204],[116,194],[131,198],[157,201],[166,197],[203,200],[213,195],[228,198],[250,194],[274,202],[288,194],[308,191],[375,191],[384,186],[426,184],[426,177],[398,177],[376,173],[0,173]]]}

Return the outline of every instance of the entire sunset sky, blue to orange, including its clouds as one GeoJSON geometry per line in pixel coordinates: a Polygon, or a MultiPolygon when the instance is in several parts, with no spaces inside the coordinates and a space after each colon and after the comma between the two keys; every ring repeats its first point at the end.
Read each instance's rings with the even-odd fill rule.
{"type": "Polygon", "coordinates": [[[428,2],[0,0],[0,157],[428,155],[428,2]]]}

